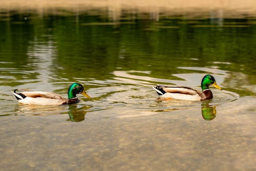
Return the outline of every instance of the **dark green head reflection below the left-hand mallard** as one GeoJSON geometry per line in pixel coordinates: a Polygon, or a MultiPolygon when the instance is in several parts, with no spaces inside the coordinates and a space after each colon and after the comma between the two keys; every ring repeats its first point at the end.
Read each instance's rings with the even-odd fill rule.
{"type": "Polygon", "coordinates": [[[67,119],[67,121],[83,121],[88,112],[87,110],[90,108],[92,108],[92,106],[81,106],[81,108],[78,108],[78,104],[69,105],[69,119],[67,119]]]}

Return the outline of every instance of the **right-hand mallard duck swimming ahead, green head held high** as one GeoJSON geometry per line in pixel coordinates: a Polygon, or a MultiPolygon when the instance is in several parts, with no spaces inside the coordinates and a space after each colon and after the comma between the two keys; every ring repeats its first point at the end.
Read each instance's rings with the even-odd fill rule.
{"type": "Polygon", "coordinates": [[[189,88],[189,87],[166,87],[166,86],[157,86],[153,89],[157,92],[158,95],[161,95],[163,98],[173,98],[178,100],[208,100],[212,99],[212,92],[209,89],[209,86],[214,86],[215,88],[222,90],[221,87],[215,81],[215,78],[212,75],[205,75],[201,82],[202,93],[189,88]]]}

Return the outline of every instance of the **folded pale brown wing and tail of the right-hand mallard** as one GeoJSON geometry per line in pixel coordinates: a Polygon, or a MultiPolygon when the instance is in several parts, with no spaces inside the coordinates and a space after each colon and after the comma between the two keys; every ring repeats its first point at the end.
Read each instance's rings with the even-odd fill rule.
{"type": "Polygon", "coordinates": [[[164,95],[165,93],[178,93],[178,94],[185,94],[185,95],[201,94],[199,91],[189,87],[157,86],[157,87],[153,87],[153,89],[158,93],[158,95],[164,95]]]}

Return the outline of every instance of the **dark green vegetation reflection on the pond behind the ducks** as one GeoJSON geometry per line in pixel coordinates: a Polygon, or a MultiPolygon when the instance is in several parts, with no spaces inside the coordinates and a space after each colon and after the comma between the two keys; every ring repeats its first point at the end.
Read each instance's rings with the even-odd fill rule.
{"type": "MultiPolygon", "coordinates": [[[[166,73],[187,72],[177,67],[207,67],[220,61],[229,64],[215,63],[214,66],[249,75],[248,83],[255,84],[256,25],[251,24],[249,18],[223,19],[223,25],[242,22],[248,26],[243,28],[221,27],[210,18],[196,21],[205,27],[195,27],[195,19],[189,22],[182,17],[161,16],[158,21],[149,18],[139,19],[135,15],[125,19],[126,23],[121,19],[118,25],[93,25],[113,22],[108,17],[87,13],[43,17],[34,13],[11,13],[9,20],[0,20],[1,60],[12,62],[12,67],[19,70],[36,71],[28,47],[35,42],[42,45],[53,42],[52,66],[55,67],[51,70],[55,79],[73,81],[77,73],[80,78],[108,79],[117,68],[150,70],[152,77],[166,78],[166,73]],[[207,27],[209,25],[220,27],[207,27]]],[[[4,63],[2,67],[8,68],[10,64],[4,63]]],[[[18,80],[36,79],[38,74],[15,76],[18,80]]]]}

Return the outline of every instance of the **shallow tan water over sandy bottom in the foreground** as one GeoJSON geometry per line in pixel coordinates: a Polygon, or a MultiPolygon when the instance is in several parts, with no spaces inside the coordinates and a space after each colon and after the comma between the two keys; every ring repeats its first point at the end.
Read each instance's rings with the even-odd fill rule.
{"type": "Polygon", "coordinates": [[[211,121],[201,108],[104,117],[117,113],[110,109],[82,122],[1,117],[1,170],[255,170],[255,102],[241,97],[217,106],[211,121]]]}

